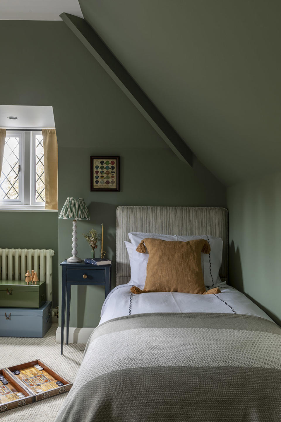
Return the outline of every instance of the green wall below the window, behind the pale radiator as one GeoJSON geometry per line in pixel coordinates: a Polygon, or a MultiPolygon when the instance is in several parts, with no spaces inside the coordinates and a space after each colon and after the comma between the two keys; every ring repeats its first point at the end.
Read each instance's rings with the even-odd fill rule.
{"type": "MultiPolygon", "coordinates": [[[[56,212],[0,211],[0,248],[54,249],[53,307],[59,303],[58,214],[56,212]]],[[[31,271],[32,268],[29,268],[31,271]]]]}

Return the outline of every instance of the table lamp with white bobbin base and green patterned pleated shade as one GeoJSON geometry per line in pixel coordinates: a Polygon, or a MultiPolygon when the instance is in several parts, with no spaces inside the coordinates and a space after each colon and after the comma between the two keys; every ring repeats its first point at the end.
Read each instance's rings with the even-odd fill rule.
{"type": "Polygon", "coordinates": [[[72,257],[67,262],[81,262],[77,255],[77,225],[76,220],[89,220],[89,211],[83,198],[67,198],[59,214],[59,218],[64,220],[73,219],[72,222],[72,257]]]}

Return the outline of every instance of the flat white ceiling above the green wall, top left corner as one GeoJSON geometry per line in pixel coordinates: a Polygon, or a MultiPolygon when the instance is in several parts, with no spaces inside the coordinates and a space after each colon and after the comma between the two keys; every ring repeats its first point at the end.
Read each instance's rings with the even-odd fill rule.
{"type": "Polygon", "coordinates": [[[59,21],[62,12],[83,18],[78,0],[0,0],[1,20],[59,21]]]}

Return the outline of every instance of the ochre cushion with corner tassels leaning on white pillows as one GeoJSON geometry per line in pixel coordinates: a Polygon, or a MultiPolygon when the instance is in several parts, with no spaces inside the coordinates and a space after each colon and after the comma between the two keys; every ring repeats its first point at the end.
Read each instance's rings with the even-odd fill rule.
{"type": "Polygon", "coordinates": [[[143,290],[132,287],[133,293],[206,294],[201,267],[201,252],[210,252],[206,240],[179,242],[145,238],[137,247],[137,252],[145,253],[145,246],[149,253],[145,287],[143,290]]]}

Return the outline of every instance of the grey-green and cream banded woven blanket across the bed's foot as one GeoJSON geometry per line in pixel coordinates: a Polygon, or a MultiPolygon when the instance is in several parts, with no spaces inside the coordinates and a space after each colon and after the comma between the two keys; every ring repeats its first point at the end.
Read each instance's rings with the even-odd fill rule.
{"type": "Polygon", "coordinates": [[[281,421],[281,329],[241,314],[99,325],[56,422],[281,421]]]}

